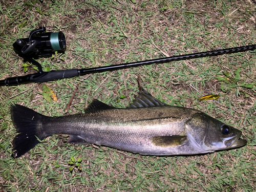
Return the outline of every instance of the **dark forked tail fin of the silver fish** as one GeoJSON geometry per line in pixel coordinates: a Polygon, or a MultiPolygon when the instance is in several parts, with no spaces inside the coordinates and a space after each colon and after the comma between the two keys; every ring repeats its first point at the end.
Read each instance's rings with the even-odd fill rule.
{"type": "Polygon", "coordinates": [[[11,106],[12,122],[18,135],[13,139],[13,157],[18,158],[48,135],[42,133],[42,122],[49,118],[22,105],[11,106]],[[39,140],[38,140],[39,139],[39,140]]]}

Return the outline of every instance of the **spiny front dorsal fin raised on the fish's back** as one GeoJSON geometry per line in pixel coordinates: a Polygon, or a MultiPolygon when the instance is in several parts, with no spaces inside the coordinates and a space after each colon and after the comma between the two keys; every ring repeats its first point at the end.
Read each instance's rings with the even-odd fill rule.
{"type": "Polygon", "coordinates": [[[142,88],[139,95],[134,98],[133,103],[128,108],[149,108],[151,106],[166,106],[166,104],[157,100],[142,88]]]}

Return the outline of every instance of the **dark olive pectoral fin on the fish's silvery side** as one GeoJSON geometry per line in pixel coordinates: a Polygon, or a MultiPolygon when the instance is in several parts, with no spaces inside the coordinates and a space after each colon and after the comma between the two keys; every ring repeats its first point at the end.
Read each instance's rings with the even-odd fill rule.
{"type": "Polygon", "coordinates": [[[156,136],[152,137],[151,141],[156,146],[161,147],[172,147],[181,145],[186,141],[186,136],[181,135],[164,135],[164,136],[156,136]]]}

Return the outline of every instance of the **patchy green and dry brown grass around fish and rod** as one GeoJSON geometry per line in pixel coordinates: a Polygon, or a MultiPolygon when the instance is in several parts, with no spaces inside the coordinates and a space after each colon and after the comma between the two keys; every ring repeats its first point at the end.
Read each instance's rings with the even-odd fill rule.
{"type": "MultiPolygon", "coordinates": [[[[13,51],[17,38],[54,26],[67,38],[65,54],[40,58],[46,70],[91,68],[255,44],[254,1],[3,1],[0,79],[25,75],[13,51]]],[[[0,87],[0,191],[254,191],[255,52],[143,66],[46,83],[0,87]],[[236,72],[238,69],[241,71],[236,72]],[[10,157],[15,129],[10,106],[49,116],[83,113],[97,98],[123,108],[142,86],[170,105],[201,110],[243,132],[247,146],[194,156],[141,156],[48,137],[22,158],[10,157]],[[104,81],[104,83],[102,83],[104,81]],[[58,100],[42,96],[46,84],[58,100]],[[247,88],[248,84],[252,86],[247,88]],[[198,99],[219,94],[217,102],[198,99]],[[125,98],[121,98],[125,95],[125,98]],[[79,166],[69,164],[82,159],[79,166]],[[73,167],[72,172],[70,167],[73,167]]],[[[33,66],[27,73],[34,73],[33,66]]]]}

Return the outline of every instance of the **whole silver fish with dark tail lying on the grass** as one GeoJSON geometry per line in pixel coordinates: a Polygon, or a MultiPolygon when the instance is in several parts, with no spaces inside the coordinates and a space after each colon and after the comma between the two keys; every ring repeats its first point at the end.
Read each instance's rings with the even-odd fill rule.
{"type": "Polygon", "coordinates": [[[14,158],[53,134],[69,134],[67,143],[152,156],[205,154],[247,143],[240,130],[201,111],[167,105],[143,88],[127,108],[95,99],[83,114],[50,117],[15,104],[11,119],[18,133],[13,139],[14,158]]]}

